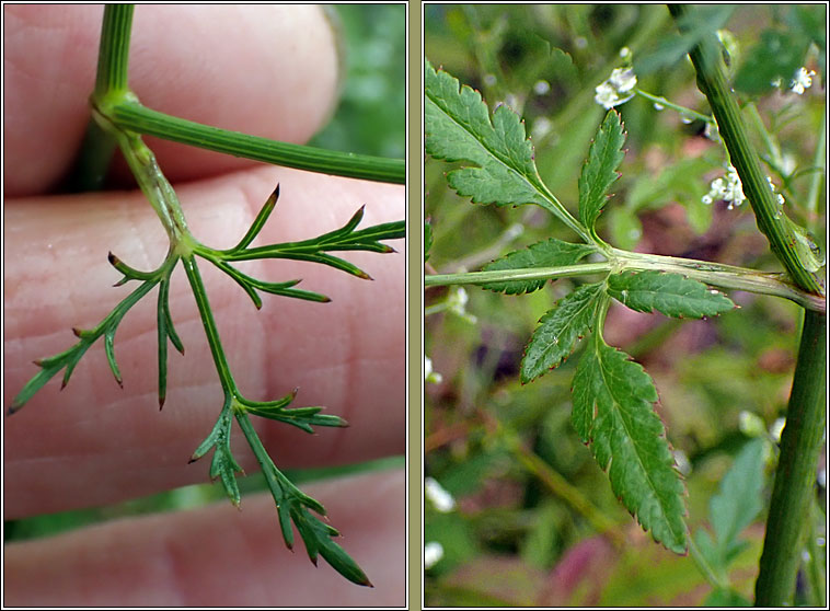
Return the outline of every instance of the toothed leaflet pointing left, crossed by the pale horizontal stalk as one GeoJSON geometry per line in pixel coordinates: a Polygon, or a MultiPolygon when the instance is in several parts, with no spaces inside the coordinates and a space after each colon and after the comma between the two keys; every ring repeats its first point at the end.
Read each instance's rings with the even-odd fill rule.
{"type": "MultiPolygon", "coordinates": [[[[587,244],[572,244],[551,238],[538,242],[523,251],[509,253],[484,266],[485,272],[503,269],[522,269],[528,267],[561,267],[574,265],[583,257],[596,252],[597,249],[587,244]]],[[[521,295],[539,290],[546,280],[507,280],[483,285],[485,289],[507,295],[521,295]]]]}

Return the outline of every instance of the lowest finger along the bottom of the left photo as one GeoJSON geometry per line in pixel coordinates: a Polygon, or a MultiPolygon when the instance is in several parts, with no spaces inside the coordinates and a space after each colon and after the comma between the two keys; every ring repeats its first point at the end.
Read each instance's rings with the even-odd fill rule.
{"type": "Polygon", "coordinates": [[[11,607],[403,607],[405,475],[388,471],[304,486],[374,588],[315,568],[281,541],[273,499],[128,518],[7,544],[11,607]]]}

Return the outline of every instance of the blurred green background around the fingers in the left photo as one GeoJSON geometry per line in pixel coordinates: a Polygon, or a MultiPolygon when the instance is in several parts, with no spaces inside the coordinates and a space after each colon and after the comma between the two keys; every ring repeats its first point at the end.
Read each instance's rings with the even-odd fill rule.
{"type": "MultiPolygon", "coordinates": [[[[345,68],[341,102],[316,147],[383,157],[404,157],[406,140],[406,14],[403,4],[344,4],[326,10],[341,27],[345,68]]],[[[148,405],[152,410],[152,405],[148,405]]],[[[175,408],[170,406],[169,408],[175,408]]],[[[195,449],[195,448],[194,448],[195,449]]],[[[182,457],[185,464],[189,457],[182,457]]],[[[209,465],[209,459],[206,464],[209,465]]],[[[403,457],[327,469],[286,471],[297,484],[378,469],[401,469],[403,457]]],[[[207,468],[205,471],[207,480],[207,468]]],[[[239,480],[245,493],[266,491],[261,473],[239,480]]],[[[35,516],[4,522],[4,541],[56,534],[94,522],[157,511],[228,503],[221,485],[197,484],[109,507],[35,516]]]]}

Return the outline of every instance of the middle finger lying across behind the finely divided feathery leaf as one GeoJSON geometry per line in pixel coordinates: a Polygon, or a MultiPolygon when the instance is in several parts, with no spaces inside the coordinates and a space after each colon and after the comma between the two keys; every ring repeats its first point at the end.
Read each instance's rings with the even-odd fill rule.
{"type": "MultiPolygon", "coordinates": [[[[302,240],[342,227],[361,205],[361,227],[400,220],[404,189],[307,172],[262,168],[178,191],[198,240],[230,247],[279,183],[281,196],[255,244],[302,240]]],[[[158,266],[166,237],[138,193],[8,200],[3,302],[4,395],[9,405],[36,372],[32,360],[57,354],[123,299],[129,285],[106,261],[112,250],[139,269],[158,266]]],[[[390,242],[403,251],[403,241],[390,242]]],[[[330,303],[263,295],[257,311],[240,287],[206,262],[200,269],[231,371],[252,400],[299,387],[293,406],[323,405],[349,428],[310,436],[253,418],[278,466],[321,465],[404,452],[405,304],[402,253],[343,253],[374,280],[323,265],[254,262],[240,268],[330,303]]],[[[130,283],[134,285],[135,283],[130,283]]],[[[84,355],[64,391],[56,376],[5,418],[5,517],[97,506],[207,480],[210,456],[188,464],[221,410],[222,390],[193,295],[181,268],[171,311],[185,356],[170,347],[168,397],[158,410],[155,289],[123,319],[115,354],[120,389],[103,346],[84,355]]],[[[232,449],[245,471],[256,464],[234,425],[232,449]]]]}

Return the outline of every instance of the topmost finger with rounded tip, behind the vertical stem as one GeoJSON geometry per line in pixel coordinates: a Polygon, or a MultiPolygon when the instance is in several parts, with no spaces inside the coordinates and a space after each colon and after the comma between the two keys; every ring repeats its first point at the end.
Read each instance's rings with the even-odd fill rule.
{"type": "MultiPolygon", "coordinates": [[[[4,5],[7,196],[45,193],[70,171],[90,118],[103,8],[4,5]]],[[[302,5],[139,5],[129,85],[150,108],[289,142],[332,112],[336,36],[302,5]]],[[[148,138],[173,181],[253,162],[148,138]]],[[[120,164],[125,175],[124,164],[120,164]]]]}

